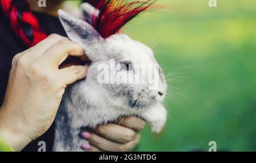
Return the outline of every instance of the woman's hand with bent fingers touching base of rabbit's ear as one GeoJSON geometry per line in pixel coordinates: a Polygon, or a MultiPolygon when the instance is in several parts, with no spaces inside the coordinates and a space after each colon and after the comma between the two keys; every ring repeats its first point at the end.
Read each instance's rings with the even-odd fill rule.
{"type": "Polygon", "coordinates": [[[85,58],[78,43],[51,35],[13,58],[0,135],[20,151],[51,126],[65,87],[85,77],[86,66],[59,69],[68,55],[85,58]]]}

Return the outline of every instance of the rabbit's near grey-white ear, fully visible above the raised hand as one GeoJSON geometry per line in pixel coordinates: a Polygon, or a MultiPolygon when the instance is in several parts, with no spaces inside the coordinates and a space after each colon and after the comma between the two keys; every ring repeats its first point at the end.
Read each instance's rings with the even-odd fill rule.
{"type": "Polygon", "coordinates": [[[59,19],[67,33],[69,39],[81,44],[90,60],[96,60],[96,56],[91,55],[92,51],[103,39],[100,34],[87,22],[69,15],[63,10],[59,10],[59,19]]]}

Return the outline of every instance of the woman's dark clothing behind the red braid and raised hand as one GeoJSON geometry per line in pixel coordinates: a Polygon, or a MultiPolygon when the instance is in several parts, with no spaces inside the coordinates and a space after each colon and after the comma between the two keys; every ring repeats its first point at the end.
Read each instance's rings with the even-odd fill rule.
{"type": "MultiPolygon", "coordinates": [[[[42,30],[49,34],[59,34],[67,36],[58,18],[46,14],[35,13],[37,16],[42,30]]],[[[11,69],[11,61],[13,57],[28,47],[15,36],[14,31],[11,29],[9,22],[6,20],[2,11],[0,11],[0,106],[5,98],[6,86],[11,69]]],[[[52,143],[54,137],[54,124],[48,129],[44,135],[32,141],[27,145],[23,151],[38,151],[38,142],[45,141],[47,151],[52,150],[52,143]]]]}

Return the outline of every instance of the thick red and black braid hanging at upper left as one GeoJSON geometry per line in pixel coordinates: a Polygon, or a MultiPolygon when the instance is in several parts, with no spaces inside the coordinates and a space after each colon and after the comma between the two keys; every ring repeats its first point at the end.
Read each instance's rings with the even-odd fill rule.
{"type": "Polygon", "coordinates": [[[9,19],[11,28],[24,44],[32,47],[47,35],[40,30],[38,19],[32,14],[26,0],[0,0],[3,14],[9,19]]]}

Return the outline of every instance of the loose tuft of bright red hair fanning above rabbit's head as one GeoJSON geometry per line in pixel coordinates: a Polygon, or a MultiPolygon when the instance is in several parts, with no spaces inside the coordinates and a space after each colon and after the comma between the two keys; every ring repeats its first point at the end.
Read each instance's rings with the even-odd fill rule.
{"type": "Polygon", "coordinates": [[[100,10],[100,14],[92,18],[92,25],[102,37],[106,38],[117,33],[141,12],[150,9],[155,1],[88,0],[87,2],[100,10]]]}

